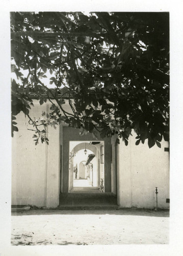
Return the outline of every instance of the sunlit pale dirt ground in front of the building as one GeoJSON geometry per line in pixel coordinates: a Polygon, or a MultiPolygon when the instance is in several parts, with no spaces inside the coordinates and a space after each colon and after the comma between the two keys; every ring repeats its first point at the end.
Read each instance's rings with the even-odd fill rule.
{"type": "Polygon", "coordinates": [[[12,245],[168,244],[169,211],[30,210],[12,213],[12,245]]]}

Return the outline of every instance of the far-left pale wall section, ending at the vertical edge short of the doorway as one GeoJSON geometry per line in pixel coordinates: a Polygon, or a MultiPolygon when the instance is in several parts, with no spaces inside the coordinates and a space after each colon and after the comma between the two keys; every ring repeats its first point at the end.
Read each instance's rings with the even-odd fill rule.
{"type": "MultiPolygon", "coordinates": [[[[45,105],[37,106],[31,116],[39,117],[45,105]]],[[[16,116],[18,132],[12,139],[12,204],[44,206],[45,143],[35,145],[34,132],[23,113],[16,116]]]]}

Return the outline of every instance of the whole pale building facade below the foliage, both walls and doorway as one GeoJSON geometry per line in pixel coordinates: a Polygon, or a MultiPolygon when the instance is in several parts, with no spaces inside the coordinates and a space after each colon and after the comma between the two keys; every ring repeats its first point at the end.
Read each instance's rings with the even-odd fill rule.
{"type": "MultiPolygon", "coordinates": [[[[30,116],[38,118],[49,107],[35,100],[30,116]]],[[[49,145],[35,145],[23,113],[17,115],[17,126],[12,139],[12,205],[57,207],[60,193],[78,186],[97,188],[103,181],[104,193],[115,194],[120,207],[154,208],[158,187],[158,207],[169,208],[168,142],[149,149],[146,142],[135,145],[134,135],[125,146],[122,139],[116,143],[115,136],[80,136],[78,129],[60,124],[57,129],[48,126],[49,145]]]]}

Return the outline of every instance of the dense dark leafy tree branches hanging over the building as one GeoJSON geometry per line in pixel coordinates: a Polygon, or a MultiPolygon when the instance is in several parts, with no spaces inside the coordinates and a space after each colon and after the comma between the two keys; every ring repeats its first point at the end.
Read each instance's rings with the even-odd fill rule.
{"type": "Polygon", "coordinates": [[[12,12],[11,52],[12,131],[23,111],[36,143],[61,122],[126,145],[132,130],[137,145],[168,140],[168,13],[12,12]],[[29,115],[33,97],[52,103],[40,119],[29,115]]]}

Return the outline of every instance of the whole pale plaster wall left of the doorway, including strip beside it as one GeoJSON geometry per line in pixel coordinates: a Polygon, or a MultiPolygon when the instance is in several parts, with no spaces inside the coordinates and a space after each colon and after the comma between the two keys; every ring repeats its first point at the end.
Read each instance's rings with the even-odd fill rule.
{"type": "MultiPolygon", "coordinates": [[[[31,117],[40,117],[46,104],[34,100],[31,117]]],[[[18,132],[12,139],[12,205],[32,204],[56,207],[59,204],[60,138],[59,127],[48,126],[49,145],[35,145],[34,132],[23,113],[16,116],[18,132]],[[46,160],[47,155],[47,160],[46,160]]]]}

